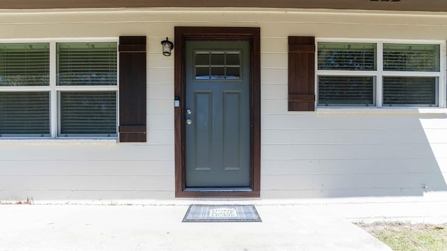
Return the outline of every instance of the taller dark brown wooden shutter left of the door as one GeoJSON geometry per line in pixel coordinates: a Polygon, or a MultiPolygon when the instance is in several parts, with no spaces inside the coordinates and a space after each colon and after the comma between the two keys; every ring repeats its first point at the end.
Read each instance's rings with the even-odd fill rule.
{"type": "Polygon", "coordinates": [[[119,37],[119,142],[146,142],[146,37],[119,37]]]}

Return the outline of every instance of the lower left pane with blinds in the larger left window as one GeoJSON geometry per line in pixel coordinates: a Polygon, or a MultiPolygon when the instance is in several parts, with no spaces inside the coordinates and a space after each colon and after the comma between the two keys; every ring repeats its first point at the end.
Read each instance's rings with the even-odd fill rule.
{"type": "Polygon", "coordinates": [[[49,92],[1,92],[0,135],[50,135],[49,92]]]}

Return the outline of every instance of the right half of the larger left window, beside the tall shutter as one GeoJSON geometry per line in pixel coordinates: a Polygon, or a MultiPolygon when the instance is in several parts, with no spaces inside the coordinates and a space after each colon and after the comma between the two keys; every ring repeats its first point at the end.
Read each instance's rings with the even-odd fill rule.
{"type": "Polygon", "coordinates": [[[57,85],[97,89],[59,91],[59,136],[117,136],[116,43],[57,43],[57,85]]]}

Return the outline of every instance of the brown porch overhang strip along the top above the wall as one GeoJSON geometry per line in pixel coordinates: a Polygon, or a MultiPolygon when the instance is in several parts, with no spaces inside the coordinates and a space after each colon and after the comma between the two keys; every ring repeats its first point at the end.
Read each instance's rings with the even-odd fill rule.
{"type": "Polygon", "coordinates": [[[345,10],[447,11],[446,0],[1,0],[0,9],[50,8],[323,8],[345,10]]]}

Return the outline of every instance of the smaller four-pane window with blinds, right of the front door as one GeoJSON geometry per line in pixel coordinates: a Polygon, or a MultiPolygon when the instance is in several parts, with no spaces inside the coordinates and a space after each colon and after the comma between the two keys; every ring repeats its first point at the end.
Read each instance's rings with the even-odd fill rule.
{"type": "Polygon", "coordinates": [[[318,106],[439,107],[439,44],[317,45],[318,106]]]}

